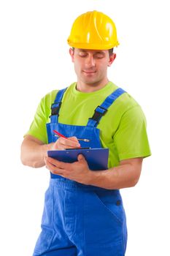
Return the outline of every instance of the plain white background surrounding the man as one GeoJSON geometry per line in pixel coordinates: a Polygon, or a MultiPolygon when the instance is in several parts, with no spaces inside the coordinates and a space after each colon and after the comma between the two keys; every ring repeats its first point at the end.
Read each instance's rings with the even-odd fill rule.
{"type": "Polygon", "coordinates": [[[109,80],[142,105],[152,149],[136,187],[121,190],[128,219],[126,256],[170,255],[168,1],[6,0],[0,4],[3,256],[30,256],[39,235],[49,173],[21,165],[20,143],[39,100],[76,80],[66,39],[74,19],[88,10],[115,21],[120,46],[109,80]]]}

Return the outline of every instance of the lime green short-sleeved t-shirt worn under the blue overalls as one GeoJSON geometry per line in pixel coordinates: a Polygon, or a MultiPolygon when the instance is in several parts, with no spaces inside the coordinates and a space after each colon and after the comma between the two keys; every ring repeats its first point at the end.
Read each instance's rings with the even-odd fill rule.
{"type": "MultiPolygon", "coordinates": [[[[59,123],[85,126],[96,107],[117,88],[114,83],[109,82],[98,91],[83,93],[76,90],[76,83],[72,83],[63,95],[59,123]]],[[[47,143],[46,124],[50,122],[50,108],[57,93],[57,90],[51,91],[42,98],[26,135],[47,143]]],[[[101,145],[109,148],[109,167],[119,165],[123,159],[150,156],[144,113],[128,93],[122,94],[109,107],[101,118],[98,129],[101,145]]]]}

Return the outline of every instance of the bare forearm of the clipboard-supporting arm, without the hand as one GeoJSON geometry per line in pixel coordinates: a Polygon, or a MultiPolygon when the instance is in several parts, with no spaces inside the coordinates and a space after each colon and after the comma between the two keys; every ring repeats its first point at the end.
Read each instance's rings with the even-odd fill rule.
{"type": "Polygon", "coordinates": [[[139,180],[141,168],[131,164],[119,165],[108,170],[92,171],[89,184],[105,189],[134,187],[139,180]]]}

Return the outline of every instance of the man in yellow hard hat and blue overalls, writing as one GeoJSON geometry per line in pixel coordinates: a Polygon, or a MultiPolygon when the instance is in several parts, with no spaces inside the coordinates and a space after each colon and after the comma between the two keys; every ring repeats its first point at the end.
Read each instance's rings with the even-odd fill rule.
{"type": "Polygon", "coordinates": [[[127,229],[119,189],[136,185],[150,155],[144,113],[107,78],[119,44],[107,15],[80,15],[68,43],[77,83],[41,100],[21,146],[24,165],[50,170],[34,256],[123,256],[127,229]],[[56,138],[54,129],[66,138],[56,138]],[[108,170],[90,170],[82,155],[72,164],[47,157],[47,150],[80,146],[109,148],[108,170]]]}

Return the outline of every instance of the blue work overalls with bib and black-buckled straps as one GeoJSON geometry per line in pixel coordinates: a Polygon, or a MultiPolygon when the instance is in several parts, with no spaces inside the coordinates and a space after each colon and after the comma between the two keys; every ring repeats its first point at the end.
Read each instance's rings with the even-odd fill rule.
{"type": "MultiPolygon", "coordinates": [[[[86,126],[58,123],[61,100],[66,89],[58,91],[47,124],[48,142],[55,142],[53,129],[66,137],[86,138],[82,147],[101,148],[98,122],[109,106],[123,94],[117,89],[98,106],[86,126]]],[[[118,189],[80,184],[50,173],[45,192],[42,232],[34,256],[123,256],[127,229],[123,201],[118,189]]]]}

